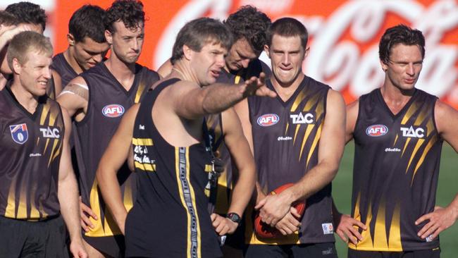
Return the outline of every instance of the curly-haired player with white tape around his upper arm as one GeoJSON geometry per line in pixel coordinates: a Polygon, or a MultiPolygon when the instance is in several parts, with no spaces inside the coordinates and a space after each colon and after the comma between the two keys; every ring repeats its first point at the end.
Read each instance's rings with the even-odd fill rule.
{"type": "MultiPolygon", "coordinates": [[[[80,169],[82,202],[92,209],[82,214],[82,227],[91,257],[123,255],[124,240],[99,195],[95,173],[99,160],[120,123],[123,113],[140,102],[159,75],[135,63],[142,51],[144,11],[140,1],[114,1],[106,12],[109,59],[71,80],[58,97],[76,117],[75,149],[80,169]],[[92,214],[92,215],[91,215],[92,214]],[[87,225],[93,225],[89,228],[87,225]]],[[[123,201],[130,209],[135,200],[135,178],[127,164],[118,171],[123,201]]]]}

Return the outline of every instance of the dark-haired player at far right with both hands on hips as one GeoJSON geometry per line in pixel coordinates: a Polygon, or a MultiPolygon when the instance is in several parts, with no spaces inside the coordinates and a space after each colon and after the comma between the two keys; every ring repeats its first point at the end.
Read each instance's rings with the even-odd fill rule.
{"type": "Polygon", "coordinates": [[[349,257],[439,257],[438,235],[458,218],[458,195],[435,207],[442,142],[458,151],[458,111],[415,87],[421,31],[390,27],[379,56],[382,87],[347,106],[346,140],[356,148],[352,217],[336,212],[336,232],[349,240],[349,257]]]}

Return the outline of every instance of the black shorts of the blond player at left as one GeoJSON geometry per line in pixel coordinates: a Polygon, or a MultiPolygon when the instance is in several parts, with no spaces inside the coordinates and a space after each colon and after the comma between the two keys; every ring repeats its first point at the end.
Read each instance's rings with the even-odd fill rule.
{"type": "Polygon", "coordinates": [[[62,217],[22,221],[0,216],[0,257],[68,257],[62,217]]]}

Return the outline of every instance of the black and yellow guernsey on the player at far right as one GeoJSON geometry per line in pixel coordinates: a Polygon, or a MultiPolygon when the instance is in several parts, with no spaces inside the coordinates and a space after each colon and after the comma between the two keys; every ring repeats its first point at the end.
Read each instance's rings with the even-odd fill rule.
{"type": "Polygon", "coordinates": [[[359,98],[354,128],[352,216],[366,224],[354,250],[403,252],[439,246],[416,234],[415,221],[434,210],[442,140],[436,97],[416,90],[394,115],[380,89],[359,98]]]}

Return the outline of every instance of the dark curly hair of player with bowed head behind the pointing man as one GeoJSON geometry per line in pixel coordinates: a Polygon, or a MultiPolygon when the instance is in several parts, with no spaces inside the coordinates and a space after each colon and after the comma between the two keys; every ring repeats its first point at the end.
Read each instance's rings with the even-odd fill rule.
{"type": "Polygon", "coordinates": [[[271,19],[253,6],[242,6],[223,21],[233,32],[234,41],[245,37],[257,54],[264,50],[266,31],[271,19]]]}

